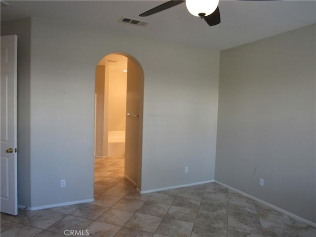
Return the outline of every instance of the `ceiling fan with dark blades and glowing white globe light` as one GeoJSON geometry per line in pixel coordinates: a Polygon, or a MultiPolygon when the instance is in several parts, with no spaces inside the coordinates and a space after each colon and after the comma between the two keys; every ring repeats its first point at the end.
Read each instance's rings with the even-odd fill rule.
{"type": "MultiPolygon", "coordinates": [[[[245,0],[245,1],[271,1],[271,0],[245,0]]],[[[171,0],[162,3],[148,11],[143,12],[139,16],[150,16],[160,11],[164,11],[173,6],[186,2],[188,11],[206,21],[209,26],[215,26],[221,23],[221,16],[219,13],[219,0],[171,0]]]]}

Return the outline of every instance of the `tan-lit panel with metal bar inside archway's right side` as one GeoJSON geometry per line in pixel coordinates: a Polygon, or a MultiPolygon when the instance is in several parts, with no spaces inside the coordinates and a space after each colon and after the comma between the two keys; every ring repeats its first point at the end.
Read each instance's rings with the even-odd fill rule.
{"type": "Polygon", "coordinates": [[[127,60],[125,175],[137,184],[139,138],[140,70],[127,60]]]}

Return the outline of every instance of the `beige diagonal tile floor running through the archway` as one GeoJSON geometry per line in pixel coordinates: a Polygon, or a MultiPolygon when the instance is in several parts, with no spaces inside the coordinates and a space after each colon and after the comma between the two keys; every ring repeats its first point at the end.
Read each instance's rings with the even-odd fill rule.
{"type": "Polygon", "coordinates": [[[315,237],[316,229],[216,183],[140,195],[124,158],[95,158],[95,201],[1,213],[1,237],[315,237]],[[66,231],[65,230],[69,230],[66,231]]]}

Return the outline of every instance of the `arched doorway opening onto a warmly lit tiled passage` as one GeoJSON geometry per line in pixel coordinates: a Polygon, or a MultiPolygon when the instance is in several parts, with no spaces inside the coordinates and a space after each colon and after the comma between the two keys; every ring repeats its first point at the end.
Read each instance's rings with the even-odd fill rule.
{"type": "Polygon", "coordinates": [[[112,184],[123,176],[140,190],[143,69],[129,54],[110,53],[96,67],[95,85],[95,160],[102,160],[95,165],[95,183],[108,185],[106,180],[112,184]],[[102,167],[111,162],[112,168],[102,167]]]}

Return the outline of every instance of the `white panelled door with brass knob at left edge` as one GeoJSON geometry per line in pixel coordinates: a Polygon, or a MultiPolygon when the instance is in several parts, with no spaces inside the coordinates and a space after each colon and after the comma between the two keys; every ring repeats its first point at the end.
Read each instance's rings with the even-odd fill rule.
{"type": "Polygon", "coordinates": [[[17,36],[1,37],[1,212],[18,214],[17,208],[17,36]]]}

